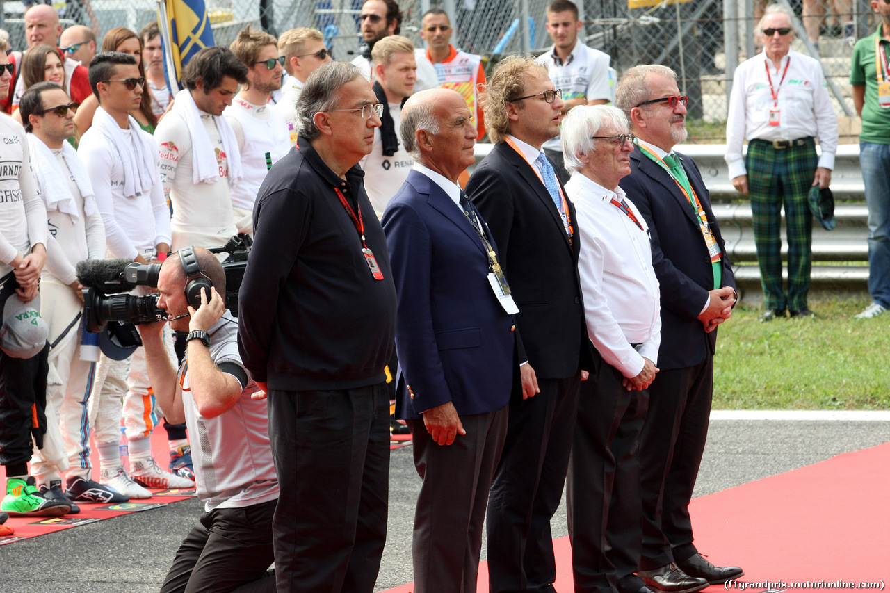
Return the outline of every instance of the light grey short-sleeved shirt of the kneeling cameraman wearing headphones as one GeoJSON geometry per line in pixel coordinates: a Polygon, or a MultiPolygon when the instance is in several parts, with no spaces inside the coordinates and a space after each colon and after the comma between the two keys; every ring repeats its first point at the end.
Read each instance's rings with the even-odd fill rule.
{"type": "MultiPolygon", "coordinates": [[[[208,332],[210,357],[217,365],[233,362],[244,369],[238,350],[238,324],[233,321],[226,310],[208,332]]],[[[215,418],[204,418],[191,396],[186,354],[177,383],[182,386],[198,498],[204,501],[205,510],[244,508],[276,500],[278,475],[272,462],[266,401],[250,399],[259,387],[245,370],[247,386],[239,401],[215,418]]]]}

